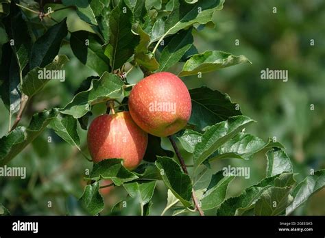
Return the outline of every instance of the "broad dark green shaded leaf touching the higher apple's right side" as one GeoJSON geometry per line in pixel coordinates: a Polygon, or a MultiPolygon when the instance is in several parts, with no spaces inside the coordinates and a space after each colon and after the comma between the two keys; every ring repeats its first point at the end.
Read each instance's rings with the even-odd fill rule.
{"type": "Polygon", "coordinates": [[[230,118],[230,116],[241,115],[239,105],[232,103],[228,94],[217,90],[202,87],[189,90],[192,100],[192,114],[190,124],[196,126],[197,130],[230,118]]]}

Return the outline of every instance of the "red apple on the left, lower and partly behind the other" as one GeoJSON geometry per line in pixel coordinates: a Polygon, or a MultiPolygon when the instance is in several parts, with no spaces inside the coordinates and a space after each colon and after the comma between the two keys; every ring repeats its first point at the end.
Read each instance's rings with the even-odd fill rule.
{"type": "Polygon", "coordinates": [[[123,166],[134,170],[147,148],[148,135],[132,120],[128,111],[98,116],[87,135],[88,149],[95,163],[123,159],[123,166]]]}

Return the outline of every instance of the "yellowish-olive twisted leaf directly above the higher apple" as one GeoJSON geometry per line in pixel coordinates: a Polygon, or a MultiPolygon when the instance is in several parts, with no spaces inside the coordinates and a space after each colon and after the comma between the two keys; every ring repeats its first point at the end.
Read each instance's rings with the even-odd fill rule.
{"type": "Polygon", "coordinates": [[[134,59],[136,63],[149,71],[158,69],[159,64],[154,57],[154,54],[148,51],[150,36],[143,31],[140,25],[137,27],[136,33],[140,36],[140,42],[134,49],[134,59]]]}

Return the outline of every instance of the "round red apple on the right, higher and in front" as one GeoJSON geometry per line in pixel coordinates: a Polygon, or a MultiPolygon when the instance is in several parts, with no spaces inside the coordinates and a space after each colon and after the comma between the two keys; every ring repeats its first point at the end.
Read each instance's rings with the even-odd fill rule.
{"type": "Polygon", "coordinates": [[[139,81],[131,90],[128,104],[134,122],[158,137],[180,131],[191,116],[189,90],[171,72],[157,72],[139,81]]]}

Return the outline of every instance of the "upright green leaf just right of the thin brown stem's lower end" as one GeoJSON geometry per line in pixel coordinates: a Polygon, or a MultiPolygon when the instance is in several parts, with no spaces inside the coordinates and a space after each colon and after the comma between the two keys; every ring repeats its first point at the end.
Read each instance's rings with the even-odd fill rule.
{"type": "Polygon", "coordinates": [[[222,170],[213,174],[210,185],[201,198],[202,209],[214,209],[224,202],[228,185],[233,179],[234,176],[224,176],[222,170]]]}

